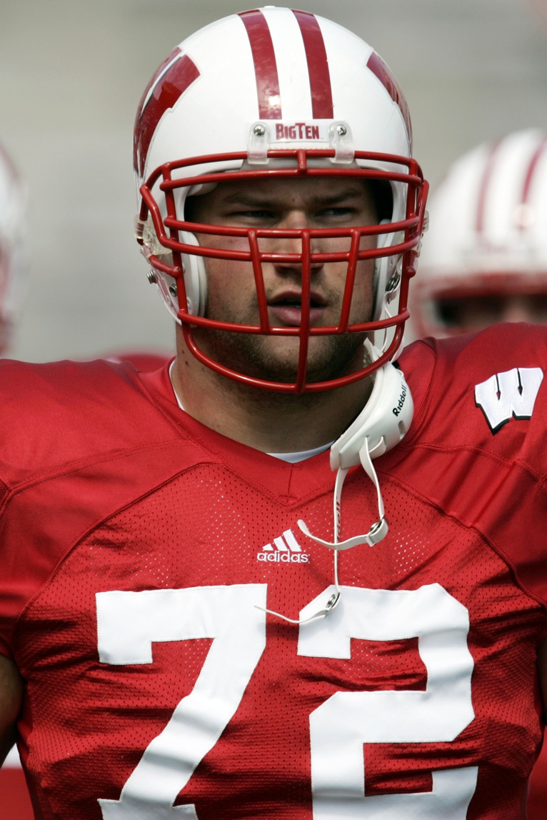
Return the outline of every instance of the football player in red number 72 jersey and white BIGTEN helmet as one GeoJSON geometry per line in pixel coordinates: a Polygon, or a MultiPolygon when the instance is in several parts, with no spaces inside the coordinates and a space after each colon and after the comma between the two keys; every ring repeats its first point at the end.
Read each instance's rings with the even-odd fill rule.
{"type": "Polygon", "coordinates": [[[0,373],[2,738],[37,814],[523,817],[547,333],[392,363],[427,188],[397,80],[244,11],[153,75],[134,166],[174,361],[0,373]]]}

